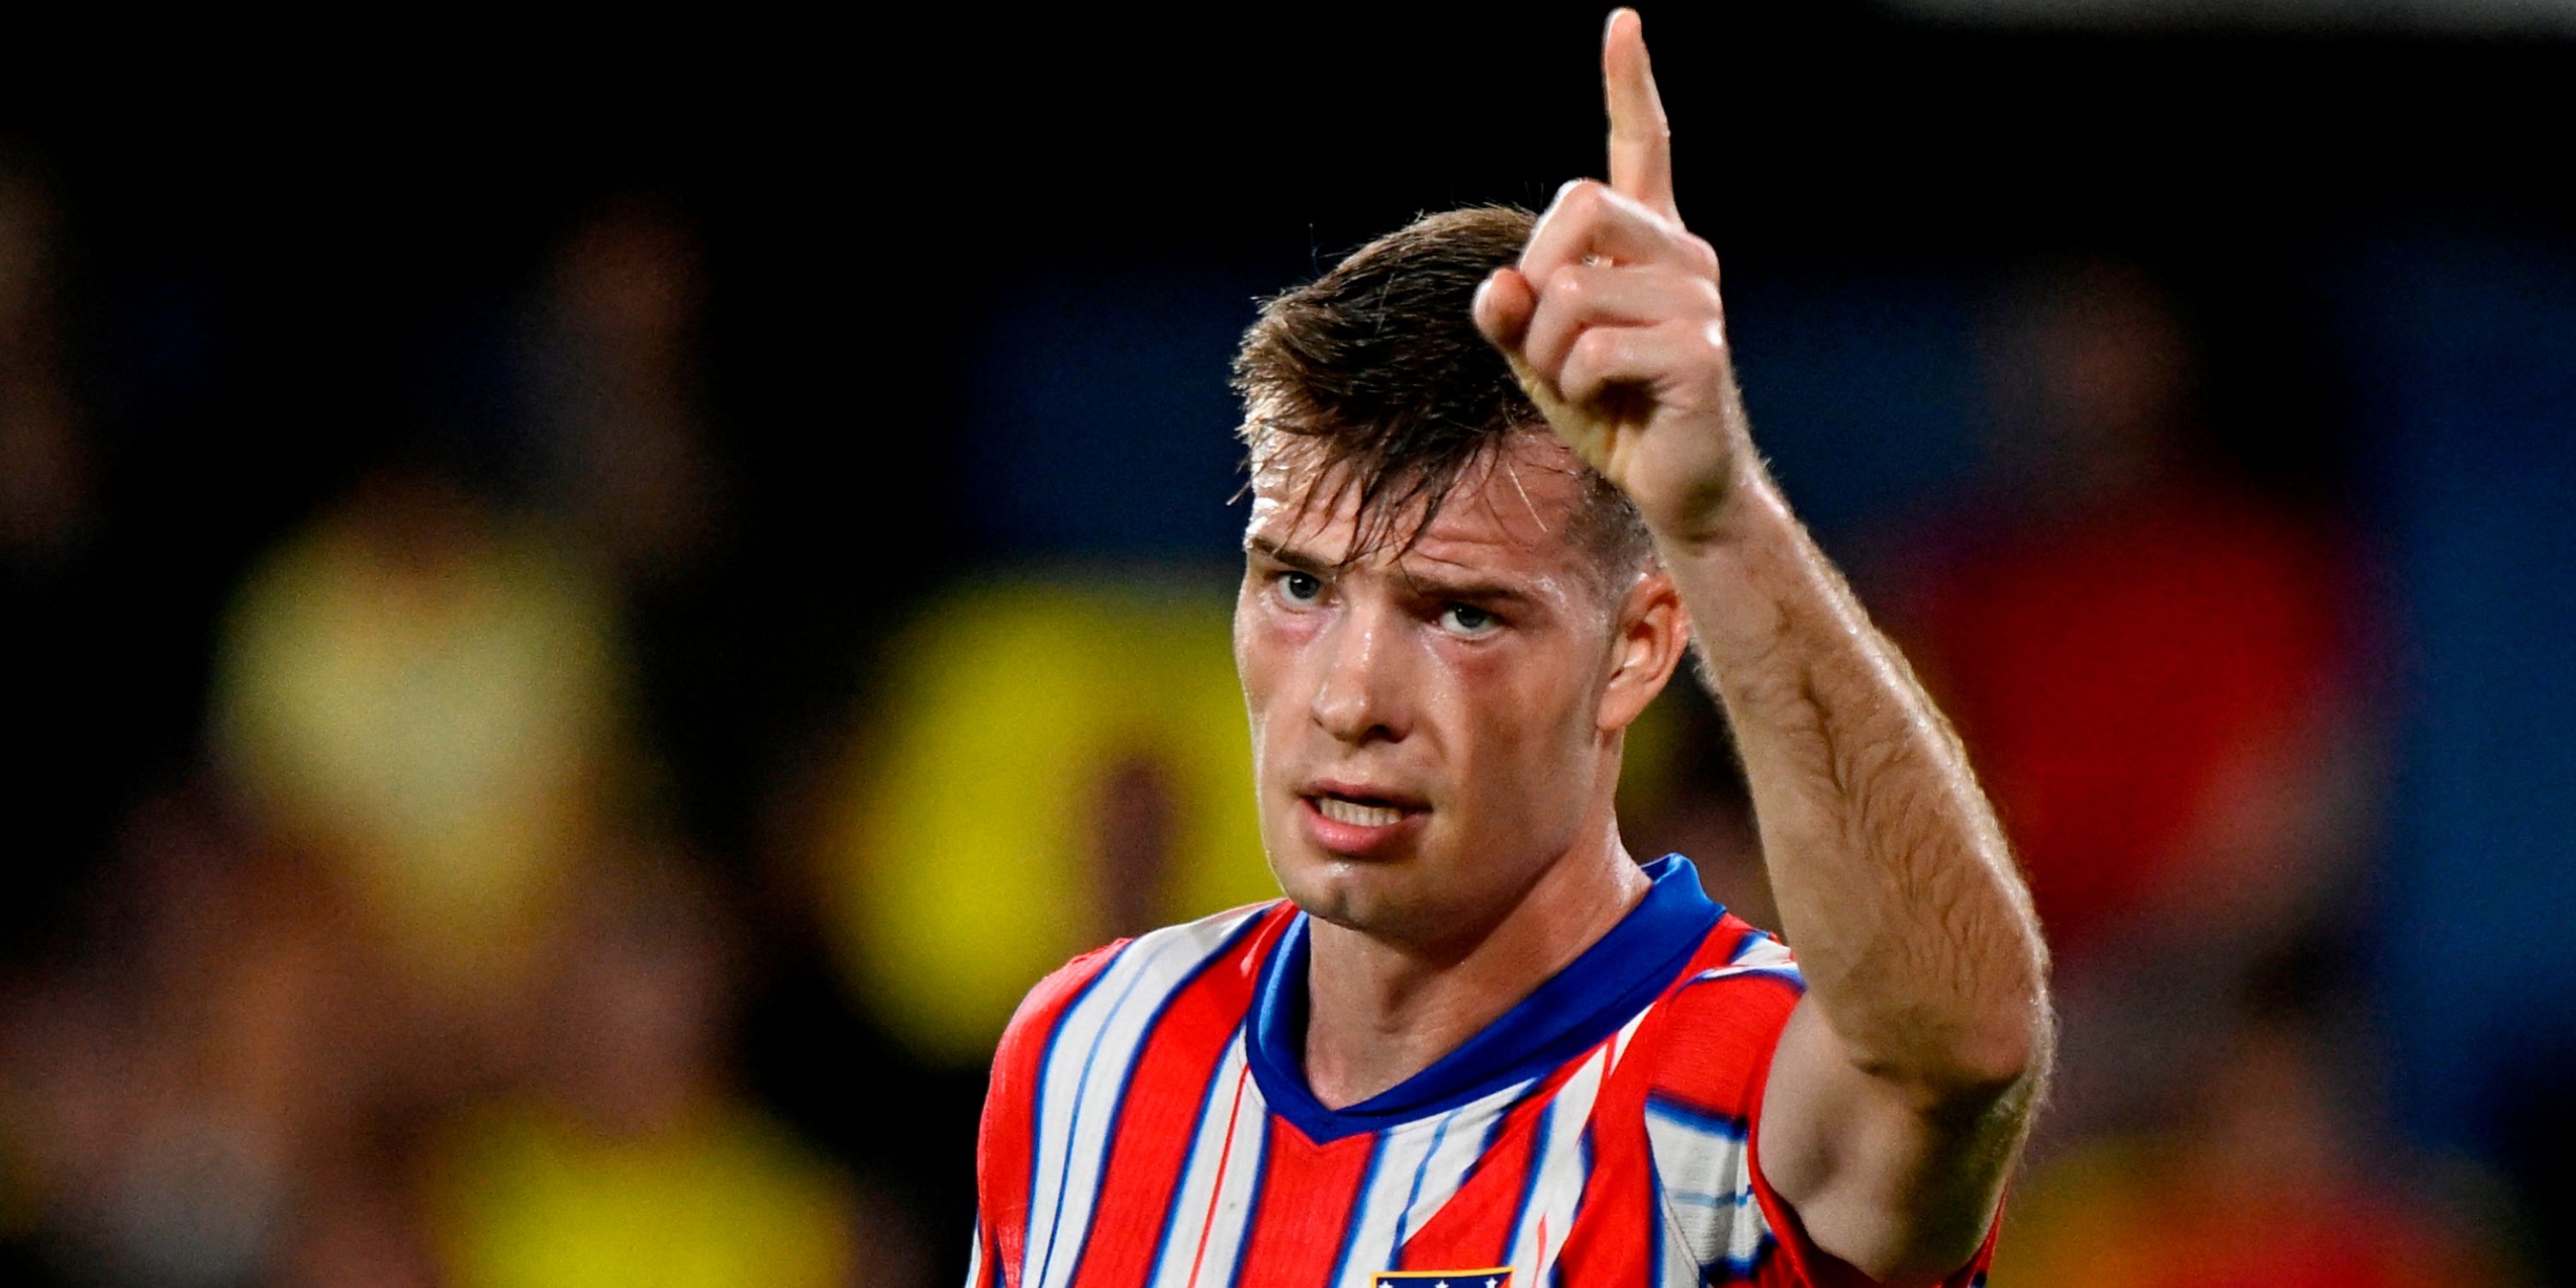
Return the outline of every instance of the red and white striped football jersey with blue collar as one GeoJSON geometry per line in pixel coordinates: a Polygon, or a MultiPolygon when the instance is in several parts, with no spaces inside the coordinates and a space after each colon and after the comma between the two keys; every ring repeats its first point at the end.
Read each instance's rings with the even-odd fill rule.
{"type": "Polygon", "coordinates": [[[1857,1283],[1759,1170],[1798,966],[1690,860],[1646,873],[1538,992],[1342,1110],[1306,1090],[1293,904],[1074,958],[994,1056],[969,1288],[1857,1283]]]}

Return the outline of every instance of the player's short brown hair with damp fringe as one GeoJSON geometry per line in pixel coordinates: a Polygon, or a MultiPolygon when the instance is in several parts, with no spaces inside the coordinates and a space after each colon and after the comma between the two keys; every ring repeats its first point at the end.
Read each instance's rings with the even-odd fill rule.
{"type": "MultiPolygon", "coordinates": [[[[1342,469],[1340,487],[1360,492],[1352,559],[1412,546],[1468,466],[1515,433],[1548,433],[1471,317],[1476,286],[1520,263],[1535,222],[1515,206],[1425,214],[1262,301],[1244,332],[1234,355],[1244,446],[1257,466],[1267,438],[1285,433],[1342,469]]],[[[1654,546],[1636,505],[1584,477],[1574,538],[1607,577],[1638,569],[1654,546]]]]}

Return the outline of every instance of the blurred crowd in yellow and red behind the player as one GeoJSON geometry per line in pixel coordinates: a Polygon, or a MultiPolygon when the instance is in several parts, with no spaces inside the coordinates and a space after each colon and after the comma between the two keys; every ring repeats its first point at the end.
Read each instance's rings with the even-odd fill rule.
{"type": "MultiPolygon", "coordinates": [[[[1226,647],[1231,479],[1193,479],[1213,520],[1144,554],[997,538],[896,585],[824,644],[829,708],[778,716],[757,675],[786,662],[719,621],[724,582],[781,556],[742,538],[760,479],[719,433],[680,206],[587,209],[430,345],[482,392],[353,428],[350,469],[240,556],[191,549],[131,482],[162,428],[100,394],[59,214],[0,152],[0,1280],[958,1280],[981,1064],[1020,992],[1273,894],[1226,647]],[[706,773],[742,786],[726,822],[706,773]]],[[[2576,1275],[2563,1162],[2499,1126],[2563,1141],[2568,1082],[2496,1051],[2460,1128],[2414,1121],[2388,1072],[2416,644],[2370,464],[2244,451],[2264,425],[2226,355],[2136,260],[1976,278],[1950,337],[1968,464],[1906,505],[1834,510],[1832,453],[1803,461],[1793,376],[1759,361],[1759,286],[1736,327],[1757,435],[1790,407],[1785,487],[1852,515],[1824,536],[1965,734],[2056,951],[2066,1046],[1994,1283],[2576,1275]]],[[[1033,291],[994,361],[1105,348],[1033,291]]],[[[1172,348],[1218,381],[1221,348],[1172,348]]],[[[1007,446],[1028,415],[997,394],[956,433],[1007,446]]],[[[1167,502],[1010,487],[1103,528],[1167,502]]],[[[1633,850],[1690,853],[1775,925],[1690,683],[1623,793],[1633,850]]],[[[2532,1007],[2535,1033],[2571,1028],[2532,1007]]]]}

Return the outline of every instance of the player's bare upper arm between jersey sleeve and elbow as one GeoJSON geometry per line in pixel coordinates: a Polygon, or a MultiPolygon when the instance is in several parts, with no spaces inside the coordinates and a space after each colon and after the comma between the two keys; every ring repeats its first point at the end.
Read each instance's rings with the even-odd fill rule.
{"type": "Polygon", "coordinates": [[[2032,1082],[1927,1103],[1857,1069],[1824,1010],[1801,999],[1765,1074],[1754,1170],[1819,1249],[1880,1283],[1935,1283],[1994,1226],[2032,1082]]]}

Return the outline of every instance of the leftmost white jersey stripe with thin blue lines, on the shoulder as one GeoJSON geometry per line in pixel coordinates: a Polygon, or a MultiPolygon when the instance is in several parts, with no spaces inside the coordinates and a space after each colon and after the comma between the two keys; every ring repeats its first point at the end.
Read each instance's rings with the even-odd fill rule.
{"type": "Polygon", "coordinates": [[[1061,1288],[1074,1278],[1082,1231],[1100,1198],[1100,1167],[1110,1149],[1118,1100],[1136,1066],[1146,1025],[1164,999],[1198,974],[1226,938],[1260,907],[1221,912],[1190,925],[1154,930],[1126,945],[1064,1015],[1038,1072],[1038,1149],[1028,1249],[1020,1283],[1061,1288]]]}

